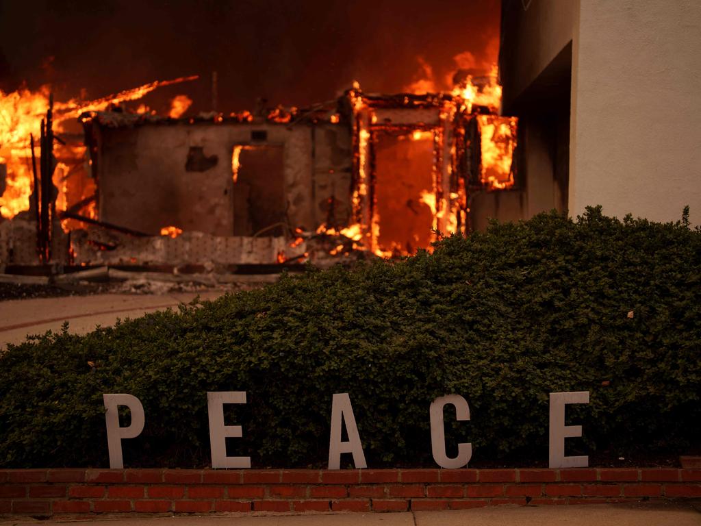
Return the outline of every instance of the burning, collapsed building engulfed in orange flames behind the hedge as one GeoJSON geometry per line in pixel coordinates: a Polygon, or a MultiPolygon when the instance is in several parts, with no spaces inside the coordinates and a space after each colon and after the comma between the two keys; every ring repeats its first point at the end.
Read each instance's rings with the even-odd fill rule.
{"type": "Polygon", "coordinates": [[[174,100],[158,116],[119,105],[155,87],[47,108],[41,151],[20,149],[10,166],[23,193],[5,215],[29,210],[0,224],[4,264],[232,271],[397,257],[468,234],[486,219],[475,203],[514,191],[517,121],[498,115],[496,72],[465,74],[451,93],[356,83],[307,109],[182,116],[174,100]],[[76,114],[84,138],[61,138],[76,114]]]}

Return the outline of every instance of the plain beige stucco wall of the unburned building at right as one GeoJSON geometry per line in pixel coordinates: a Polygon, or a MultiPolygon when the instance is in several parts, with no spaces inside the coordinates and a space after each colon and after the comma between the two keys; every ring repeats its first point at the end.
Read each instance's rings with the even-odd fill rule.
{"type": "Polygon", "coordinates": [[[572,69],[570,214],[701,224],[701,2],[581,0],[572,69]]]}

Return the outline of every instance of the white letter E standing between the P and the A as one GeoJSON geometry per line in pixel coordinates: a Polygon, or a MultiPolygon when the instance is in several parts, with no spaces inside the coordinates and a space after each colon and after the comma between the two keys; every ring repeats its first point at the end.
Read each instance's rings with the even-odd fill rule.
{"type": "Polygon", "coordinates": [[[207,414],[210,418],[212,468],[250,468],[251,457],[227,457],[226,437],[241,438],[241,426],[224,425],[224,404],[245,404],[246,391],[207,393],[207,414]]]}

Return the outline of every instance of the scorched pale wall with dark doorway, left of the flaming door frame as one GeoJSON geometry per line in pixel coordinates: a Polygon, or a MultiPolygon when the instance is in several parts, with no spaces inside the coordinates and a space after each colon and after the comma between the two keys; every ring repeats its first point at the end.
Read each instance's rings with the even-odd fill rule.
{"type": "MultiPolygon", "coordinates": [[[[175,226],[214,236],[251,236],[257,232],[243,232],[240,224],[236,229],[235,222],[251,215],[261,195],[274,201],[266,203],[274,209],[271,222],[292,228],[313,229],[324,222],[331,196],[337,219],[348,217],[351,139],[341,125],[143,123],[98,126],[95,138],[98,214],[104,222],[152,235],[175,226]],[[234,182],[237,145],[244,151],[234,182]],[[257,161],[253,150],[263,153],[257,161]],[[253,164],[261,168],[245,173],[253,164]],[[257,192],[257,203],[249,200],[251,191],[257,192]]],[[[258,217],[254,223],[260,230],[265,221],[258,217]]]]}

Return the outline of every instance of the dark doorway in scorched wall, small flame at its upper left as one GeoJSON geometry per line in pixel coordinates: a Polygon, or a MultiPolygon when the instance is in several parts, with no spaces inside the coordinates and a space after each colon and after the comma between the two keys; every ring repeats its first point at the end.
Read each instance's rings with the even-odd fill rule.
{"type": "Polygon", "coordinates": [[[284,236],[283,144],[235,144],[231,152],[233,235],[284,236]]]}

